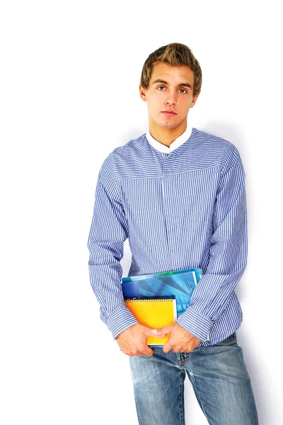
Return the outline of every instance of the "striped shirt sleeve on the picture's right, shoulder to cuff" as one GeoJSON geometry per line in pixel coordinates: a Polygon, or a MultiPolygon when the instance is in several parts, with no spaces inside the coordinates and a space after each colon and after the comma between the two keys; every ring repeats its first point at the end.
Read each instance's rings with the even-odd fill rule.
{"type": "Polygon", "coordinates": [[[209,264],[177,322],[202,341],[221,317],[243,275],[247,260],[245,173],[231,144],[221,166],[216,193],[209,264]]]}

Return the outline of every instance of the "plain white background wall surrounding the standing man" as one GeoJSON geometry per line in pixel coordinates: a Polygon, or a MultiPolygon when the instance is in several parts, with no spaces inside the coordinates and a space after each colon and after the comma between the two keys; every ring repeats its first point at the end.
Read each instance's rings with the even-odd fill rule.
{"type": "MultiPolygon", "coordinates": [[[[1,424],[137,424],[86,243],[100,165],[146,132],[141,68],[170,42],[202,67],[190,125],[233,142],[246,169],[238,344],[260,424],[282,424],[280,16],[279,1],[1,3],[1,424]]],[[[124,276],[129,261],[126,243],[124,276]]],[[[188,380],[185,399],[186,425],[207,424],[188,380]]]]}

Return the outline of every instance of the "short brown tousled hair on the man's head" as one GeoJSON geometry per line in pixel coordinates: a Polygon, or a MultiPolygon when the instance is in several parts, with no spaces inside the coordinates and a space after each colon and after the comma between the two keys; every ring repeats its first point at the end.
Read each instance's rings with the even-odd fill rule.
{"type": "Polygon", "coordinates": [[[154,69],[154,65],[158,62],[167,62],[168,64],[178,67],[180,65],[187,65],[192,69],[195,75],[195,84],[193,96],[200,94],[202,87],[202,69],[195,56],[192,55],[192,50],[180,42],[171,42],[166,46],[159,47],[155,52],[151,53],[144,62],[141,71],[141,86],[144,89],[149,88],[149,81],[154,69]]]}

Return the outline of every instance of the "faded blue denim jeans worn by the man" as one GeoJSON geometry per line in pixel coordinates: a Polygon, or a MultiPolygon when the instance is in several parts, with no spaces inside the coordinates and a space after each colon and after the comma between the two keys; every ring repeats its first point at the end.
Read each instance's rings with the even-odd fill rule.
{"type": "Polygon", "coordinates": [[[194,353],[129,357],[139,425],[185,425],[187,373],[210,425],[258,425],[258,414],[236,332],[194,353]]]}

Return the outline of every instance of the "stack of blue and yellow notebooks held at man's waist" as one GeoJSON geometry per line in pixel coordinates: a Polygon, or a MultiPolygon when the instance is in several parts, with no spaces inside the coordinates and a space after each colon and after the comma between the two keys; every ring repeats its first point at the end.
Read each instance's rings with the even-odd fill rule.
{"type": "MultiPolygon", "coordinates": [[[[200,268],[190,268],[122,278],[125,305],[146,327],[168,326],[187,310],[192,291],[201,277],[200,268]]],[[[150,347],[160,347],[168,339],[169,334],[165,338],[149,336],[146,343],[150,347]]]]}

